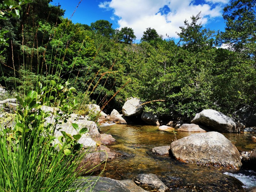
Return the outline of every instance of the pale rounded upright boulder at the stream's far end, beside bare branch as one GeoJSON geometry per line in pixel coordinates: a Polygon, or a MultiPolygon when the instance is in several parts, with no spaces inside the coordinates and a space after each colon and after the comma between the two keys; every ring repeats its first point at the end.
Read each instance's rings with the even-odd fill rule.
{"type": "Polygon", "coordinates": [[[131,98],[124,103],[122,113],[124,116],[140,116],[144,110],[143,102],[138,98],[131,98]]]}

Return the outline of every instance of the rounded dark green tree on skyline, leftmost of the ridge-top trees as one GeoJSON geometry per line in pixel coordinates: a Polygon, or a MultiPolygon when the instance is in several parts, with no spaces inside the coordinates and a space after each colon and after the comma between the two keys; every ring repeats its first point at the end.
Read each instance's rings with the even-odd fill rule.
{"type": "Polygon", "coordinates": [[[109,23],[107,20],[97,20],[94,23],[91,23],[91,29],[105,37],[111,37],[115,30],[112,28],[112,23],[109,23]]]}

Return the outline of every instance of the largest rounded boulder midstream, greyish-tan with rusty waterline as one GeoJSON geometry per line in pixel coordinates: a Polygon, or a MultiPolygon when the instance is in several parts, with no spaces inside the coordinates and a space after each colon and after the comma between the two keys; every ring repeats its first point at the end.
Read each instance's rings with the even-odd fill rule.
{"type": "Polygon", "coordinates": [[[217,164],[228,168],[242,166],[237,148],[221,133],[196,133],[173,141],[169,154],[190,163],[217,164]]]}

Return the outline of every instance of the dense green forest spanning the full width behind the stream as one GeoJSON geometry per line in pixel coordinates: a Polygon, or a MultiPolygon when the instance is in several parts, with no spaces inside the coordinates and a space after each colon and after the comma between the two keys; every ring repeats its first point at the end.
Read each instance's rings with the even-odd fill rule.
{"type": "Polygon", "coordinates": [[[10,95],[54,79],[76,89],[81,115],[86,103],[107,114],[121,111],[130,97],[158,100],[146,111],[160,119],[189,119],[203,109],[238,118],[240,108],[255,107],[255,0],[230,0],[223,10],[224,32],[204,28],[199,12],[180,23],[178,43],[148,26],[138,44],[132,28],[115,30],[107,20],[72,23],[50,2],[1,4],[0,84],[10,95]]]}

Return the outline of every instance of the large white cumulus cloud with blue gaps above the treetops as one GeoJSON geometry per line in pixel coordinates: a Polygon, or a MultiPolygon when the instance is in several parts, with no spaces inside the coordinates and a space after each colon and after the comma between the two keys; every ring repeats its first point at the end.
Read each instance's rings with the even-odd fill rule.
{"type": "Polygon", "coordinates": [[[201,11],[200,22],[205,25],[221,17],[222,3],[226,1],[205,0],[204,3],[196,4],[191,0],[111,0],[100,3],[99,7],[112,9],[112,19],[116,18],[119,29],[132,28],[137,40],[140,40],[148,27],[155,28],[164,37],[167,34],[178,38],[176,32],[180,32],[179,27],[184,25],[185,19],[190,21],[192,15],[201,11]]]}

